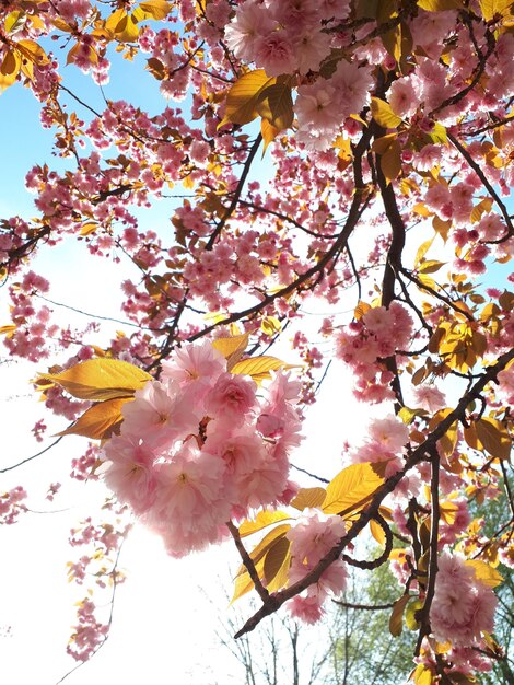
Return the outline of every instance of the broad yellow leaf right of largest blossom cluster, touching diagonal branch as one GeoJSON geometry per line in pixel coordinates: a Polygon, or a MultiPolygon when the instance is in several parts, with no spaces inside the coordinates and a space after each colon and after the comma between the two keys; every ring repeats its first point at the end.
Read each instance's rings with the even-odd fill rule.
{"type": "Polygon", "coordinates": [[[387,462],[376,462],[343,468],[327,486],[323,511],[344,518],[363,509],[384,483],[386,465],[387,462]]]}

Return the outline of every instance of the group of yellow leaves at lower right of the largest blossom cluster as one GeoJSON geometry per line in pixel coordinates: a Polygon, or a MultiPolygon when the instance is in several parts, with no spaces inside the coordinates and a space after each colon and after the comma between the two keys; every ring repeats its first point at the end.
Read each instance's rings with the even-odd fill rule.
{"type": "MultiPolygon", "coordinates": [[[[352,464],[343,468],[327,486],[327,488],[301,488],[292,500],[291,507],[299,511],[307,508],[319,509],[326,514],[337,514],[344,520],[353,519],[371,501],[376,490],[384,483],[386,464],[352,464]]],[[[261,511],[254,521],[244,521],[240,525],[241,537],[246,537],[264,529],[279,523],[258,543],[249,556],[255,565],[260,580],[268,592],[277,592],[287,587],[288,571],[291,565],[291,543],[285,537],[294,519],[283,511],[261,511]]],[[[244,565],[235,578],[232,602],[240,599],[254,587],[249,573],[244,565]]]]}

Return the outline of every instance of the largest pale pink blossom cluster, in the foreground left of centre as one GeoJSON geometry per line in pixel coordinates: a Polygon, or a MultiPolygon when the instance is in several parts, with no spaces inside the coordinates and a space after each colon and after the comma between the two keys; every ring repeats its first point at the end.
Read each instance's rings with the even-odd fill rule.
{"type": "Polygon", "coordinates": [[[219,542],[231,516],[289,502],[288,455],[300,442],[300,384],[278,372],[257,393],[209,341],[177,349],[124,406],[105,445],[105,480],[180,557],[219,542]]]}

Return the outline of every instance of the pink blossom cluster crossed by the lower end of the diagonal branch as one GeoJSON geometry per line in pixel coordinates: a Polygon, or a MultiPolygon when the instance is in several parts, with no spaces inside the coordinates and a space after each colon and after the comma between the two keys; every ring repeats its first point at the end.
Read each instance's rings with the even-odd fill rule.
{"type": "MultiPolygon", "coordinates": [[[[302,580],[346,534],[340,516],[306,509],[287,533],[291,541],[289,584],[302,580]]],[[[313,624],[324,615],[323,604],[330,594],[340,594],[347,584],[347,569],[341,559],[331,564],[319,580],[287,603],[291,615],[313,624]]]]}

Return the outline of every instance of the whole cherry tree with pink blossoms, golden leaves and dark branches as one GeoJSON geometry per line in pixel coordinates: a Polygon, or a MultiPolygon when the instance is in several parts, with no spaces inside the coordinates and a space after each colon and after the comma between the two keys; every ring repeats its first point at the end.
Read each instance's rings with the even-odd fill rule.
{"type": "MultiPolygon", "coordinates": [[[[1,221],[3,340],[38,365],[59,439],[84,437],[71,477],[113,494],[73,532],[73,580],[94,568],[114,593],[137,516],[176,557],[232,537],[234,599],[260,600],[236,638],[282,607],[316,623],[349,566],[389,564],[390,634],[417,634],[412,682],[474,683],[503,658],[513,15],[509,0],[2,3],[0,85],[33,92],[65,167],[36,163],[37,214],[1,221]],[[67,85],[79,69],[102,86],[120,59],[159,82],[159,113],[129,93],[97,109],[67,85]],[[144,225],[170,194],[173,231],[144,225]],[[70,236],[92,264],[137,270],[107,345],[100,323],[59,318],[51,275],[35,270],[70,236]],[[303,487],[291,460],[338,363],[377,418],[360,442],[341,437],[329,481],[303,487]],[[498,499],[486,535],[469,504],[498,499]],[[359,556],[366,533],[373,558],[359,556]]],[[[46,439],[43,417],[34,433],[46,439]]],[[[1,495],[4,523],[25,509],[23,485],[1,495]]],[[[108,635],[95,608],[79,608],[79,662],[108,635]]]]}

